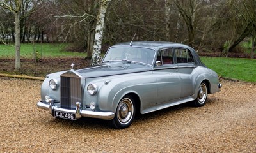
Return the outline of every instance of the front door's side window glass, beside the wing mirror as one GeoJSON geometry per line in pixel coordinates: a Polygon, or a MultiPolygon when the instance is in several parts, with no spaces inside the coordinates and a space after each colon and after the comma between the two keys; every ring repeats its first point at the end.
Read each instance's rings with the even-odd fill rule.
{"type": "Polygon", "coordinates": [[[164,64],[173,64],[173,50],[172,48],[166,48],[160,50],[157,55],[157,60],[161,61],[164,64]]]}

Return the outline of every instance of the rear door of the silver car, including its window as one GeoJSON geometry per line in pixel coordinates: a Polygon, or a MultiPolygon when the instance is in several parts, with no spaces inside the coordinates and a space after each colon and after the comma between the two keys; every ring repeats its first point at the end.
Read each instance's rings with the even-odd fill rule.
{"type": "Polygon", "coordinates": [[[193,70],[195,65],[191,52],[187,48],[174,48],[177,66],[181,81],[180,98],[191,96],[194,94],[195,88],[193,85],[193,70]]]}

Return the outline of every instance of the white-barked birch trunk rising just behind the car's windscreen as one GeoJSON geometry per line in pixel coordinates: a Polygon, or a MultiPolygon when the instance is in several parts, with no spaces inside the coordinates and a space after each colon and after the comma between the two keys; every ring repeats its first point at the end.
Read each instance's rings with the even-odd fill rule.
{"type": "Polygon", "coordinates": [[[102,47],[102,36],[104,32],[104,20],[105,20],[106,11],[110,1],[111,0],[102,0],[100,4],[100,9],[97,17],[98,20],[96,22],[91,65],[100,64],[102,60],[102,57],[100,54],[101,54],[101,47],[102,47]]]}

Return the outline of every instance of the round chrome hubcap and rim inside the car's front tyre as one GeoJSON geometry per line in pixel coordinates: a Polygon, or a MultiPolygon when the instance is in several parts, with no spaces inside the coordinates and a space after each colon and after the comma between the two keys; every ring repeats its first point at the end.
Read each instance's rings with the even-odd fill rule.
{"type": "Polygon", "coordinates": [[[134,106],[129,98],[124,98],[118,105],[117,118],[121,124],[127,124],[131,121],[132,115],[134,113],[134,106]]]}

